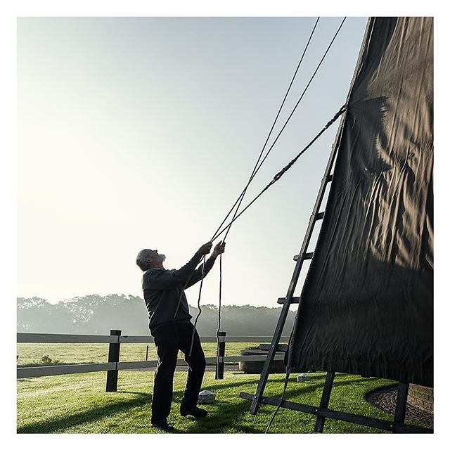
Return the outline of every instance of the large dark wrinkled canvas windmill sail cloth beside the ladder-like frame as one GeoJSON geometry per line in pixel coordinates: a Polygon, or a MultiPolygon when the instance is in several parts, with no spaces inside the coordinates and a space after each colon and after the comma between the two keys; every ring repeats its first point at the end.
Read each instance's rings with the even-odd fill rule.
{"type": "Polygon", "coordinates": [[[372,18],[293,367],[433,383],[433,20],[372,18]]]}

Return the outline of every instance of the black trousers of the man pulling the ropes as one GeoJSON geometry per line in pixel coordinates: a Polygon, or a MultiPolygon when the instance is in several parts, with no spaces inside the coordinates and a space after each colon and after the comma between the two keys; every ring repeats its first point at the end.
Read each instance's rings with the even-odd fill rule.
{"type": "Polygon", "coordinates": [[[192,323],[169,323],[162,325],[153,333],[158,366],[153,383],[151,423],[167,420],[172,406],[174,372],[179,350],[184,353],[188,363],[186,389],[181,399],[182,407],[195,406],[205,373],[205,354],[197,331],[194,333],[192,354],[189,356],[194,326],[192,323]]]}

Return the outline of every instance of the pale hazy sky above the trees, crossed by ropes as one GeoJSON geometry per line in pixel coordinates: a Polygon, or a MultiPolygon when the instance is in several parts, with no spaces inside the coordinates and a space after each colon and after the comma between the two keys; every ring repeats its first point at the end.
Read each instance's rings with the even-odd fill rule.
{"type": "MultiPolygon", "coordinates": [[[[141,248],[187,262],[248,180],[315,20],[20,18],[18,296],[141,296],[141,248]]],[[[319,21],[281,119],[340,20],[319,21]]],[[[345,103],[365,26],[347,18],[248,200],[345,103]]],[[[336,129],[236,221],[224,304],[285,295],[336,129]]]]}

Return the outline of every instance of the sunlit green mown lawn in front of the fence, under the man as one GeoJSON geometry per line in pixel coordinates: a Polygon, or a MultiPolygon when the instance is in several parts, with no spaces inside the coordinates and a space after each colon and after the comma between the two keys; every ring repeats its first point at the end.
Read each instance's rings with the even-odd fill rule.
{"type": "MultiPolygon", "coordinates": [[[[118,392],[105,392],[105,372],[26,378],[17,383],[18,433],[155,433],[150,428],[150,400],[153,371],[120,371],[118,392]]],[[[274,407],[262,405],[257,416],[248,413],[250,401],[238,397],[240,391],[254,393],[259,375],[225,373],[214,380],[214,372],[205,373],[203,389],[216,394],[214,404],[205,405],[208,416],[200,420],[179,415],[179,403],[186,373],[175,373],[174,403],[169,422],[179,433],[262,433],[274,407]]],[[[291,375],[285,399],[318,405],[324,373],[297,383],[291,375]]],[[[270,375],[265,395],[280,397],[284,375],[270,375]]],[[[330,408],[392,420],[368,404],[367,392],[392,384],[378,378],[336,374],[330,408]]],[[[281,409],[271,427],[273,433],[309,433],[315,416],[281,409]]],[[[418,425],[418,424],[416,424],[418,425]]],[[[327,419],[325,432],[382,432],[327,419]]]]}

